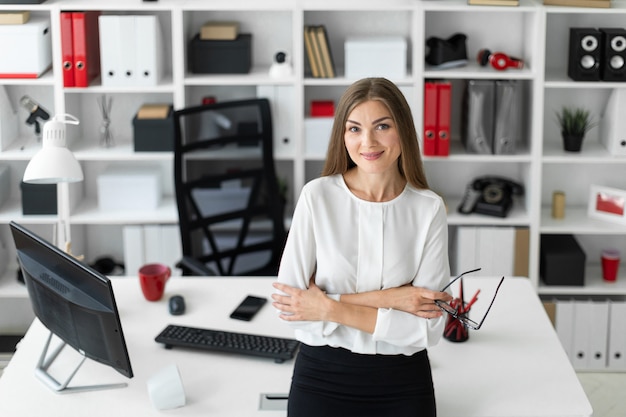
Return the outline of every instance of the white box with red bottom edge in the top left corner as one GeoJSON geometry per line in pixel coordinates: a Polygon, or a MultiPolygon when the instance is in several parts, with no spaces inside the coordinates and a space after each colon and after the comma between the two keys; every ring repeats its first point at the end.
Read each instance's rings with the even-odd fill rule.
{"type": "Polygon", "coordinates": [[[50,21],[0,25],[0,78],[37,78],[52,65],[50,21]]]}

